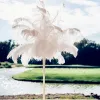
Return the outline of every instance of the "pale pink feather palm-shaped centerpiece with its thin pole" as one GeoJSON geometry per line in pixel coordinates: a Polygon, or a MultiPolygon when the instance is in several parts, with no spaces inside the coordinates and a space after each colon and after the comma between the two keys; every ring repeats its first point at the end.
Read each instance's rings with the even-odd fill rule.
{"type": "Polygon", "coordinates": [[[75,38],[72,38],[80,31],[76,28],[63,30],[54,24],[50,18],[44,2],[40,1],[41,7],[37,6],[33,19],[17,18],[14,21],[13,29],[20,29],[21,34],[27,43],[14,48],[8,55],[17,63],[21,55],[22,64],[27,65],[32,58],[43,59],[43,100],[45,100],[45,61],[58,58],[59,63],[64,63],[62,51],[70,52],[77,56],[77,48],[74,46],[75,38]],[[31,40],[31,41],[30,41],[31,40]]]}

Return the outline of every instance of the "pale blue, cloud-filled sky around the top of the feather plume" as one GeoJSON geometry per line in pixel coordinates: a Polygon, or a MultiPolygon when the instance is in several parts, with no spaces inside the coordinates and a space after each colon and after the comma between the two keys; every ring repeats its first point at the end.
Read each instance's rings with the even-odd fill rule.
{"type": "MultiPolygon", "coordinates": [[[[84,37],[100,43],[100,0],[44,2],[52,17],[59,11],[60,19],[64,21],[63,28],[78,28],[84,37]]],[[[12,30],[13,20],[32,15],[37,3],[38,0],[0,0],[0,41],[18,38],[12,30]]]]}

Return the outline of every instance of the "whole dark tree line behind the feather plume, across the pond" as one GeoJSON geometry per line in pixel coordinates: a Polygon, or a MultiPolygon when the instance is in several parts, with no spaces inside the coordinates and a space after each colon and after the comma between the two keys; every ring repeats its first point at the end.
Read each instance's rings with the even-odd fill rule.
{"type": "MultiPolygon", "coordinates": [[[[13,40],[0,42],[0,62],[8,61],[13,63],[12,59],[7,59],[7,55],[10,50],[16,46],[17,45],[13,40]]],[[[100,44],[84,38],[79,43],[75,43],[75,46],[78,48],[78,55],[76,58],[70,53],[64,51],[61,52],[65,59],[64,65],[81,64],[100,66],[100,44]]],[[[18,63],[21,63],[20,58],[21,57],[18,58],[18,63]]],[[[33,58],[30,60],[29,64],[42,64],[42,61],[38,61],[33,58]]],[[[58,64],[58,60],[55,58],[51,61],[46,60],[46,64],[58,64]]]]}

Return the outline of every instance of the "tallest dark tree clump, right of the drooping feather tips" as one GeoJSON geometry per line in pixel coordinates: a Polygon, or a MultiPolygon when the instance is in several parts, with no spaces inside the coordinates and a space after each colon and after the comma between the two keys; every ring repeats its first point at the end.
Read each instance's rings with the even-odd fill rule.
{"type": "Polygon", "coordinates": [[[79,51],[76,57],[77,64],[83,65],[100,65],[100,45],[94,41],[83,39],[76,44],[79,51]]]}

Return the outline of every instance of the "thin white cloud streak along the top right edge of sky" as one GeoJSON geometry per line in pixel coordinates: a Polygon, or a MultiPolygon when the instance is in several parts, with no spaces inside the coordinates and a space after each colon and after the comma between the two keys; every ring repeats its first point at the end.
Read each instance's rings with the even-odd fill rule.
{"type": "Polygon", "coordinates": [[[98,3],[90,0],[66,0],[73,4],[84,5],[84,6],[97,6],[98,3]]]}

